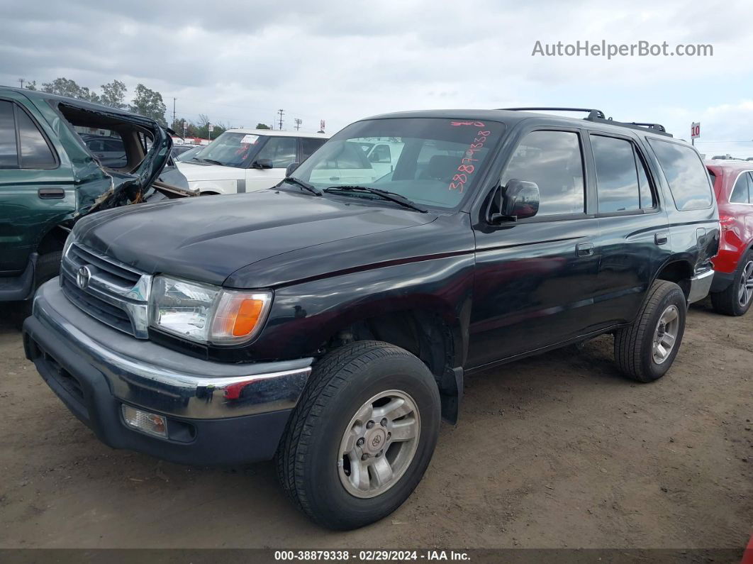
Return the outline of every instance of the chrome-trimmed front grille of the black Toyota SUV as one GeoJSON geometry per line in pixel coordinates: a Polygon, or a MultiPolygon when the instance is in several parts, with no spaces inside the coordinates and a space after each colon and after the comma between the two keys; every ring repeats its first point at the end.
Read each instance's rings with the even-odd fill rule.
{"type": "Polygon", "coordinates": [[[62,258],[60,284],[71,303],[93,318],[134,337],[148,337],[151,276],[72,243],[62,258]],[[82,287],[78,273],[83,267],[90,277],[82,287]]]}

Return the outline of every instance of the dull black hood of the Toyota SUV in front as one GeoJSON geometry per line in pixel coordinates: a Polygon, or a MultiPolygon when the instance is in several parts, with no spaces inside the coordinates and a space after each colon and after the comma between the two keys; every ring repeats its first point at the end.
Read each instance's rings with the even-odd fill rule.
{"type": "Polygon", "coordinates": [[[113,209],[84,218],[75,236],[147,273],[222,284],[264,259],[436,218],[431,212],[264,190],[113,209]]]}

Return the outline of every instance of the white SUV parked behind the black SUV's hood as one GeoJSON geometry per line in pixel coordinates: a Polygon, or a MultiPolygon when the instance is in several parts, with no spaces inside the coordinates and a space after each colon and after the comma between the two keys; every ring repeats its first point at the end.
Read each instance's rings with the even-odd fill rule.
{"type": "Polygon", "coordinates": [[[270,188],[291,163],[302,163],[327,141],[323,133],[227,130],[178,169],[200,194],[240,194],[270,188]]]}

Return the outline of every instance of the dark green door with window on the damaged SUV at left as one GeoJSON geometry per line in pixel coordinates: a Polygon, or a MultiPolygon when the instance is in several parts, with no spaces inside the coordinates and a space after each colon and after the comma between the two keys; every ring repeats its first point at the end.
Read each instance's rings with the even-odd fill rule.
{"type": "Polygon", "coordinates": [[[42,236],[76,208],[72,172],[41,123],[0,98],[0,276],[23,271],[42,236]]]}

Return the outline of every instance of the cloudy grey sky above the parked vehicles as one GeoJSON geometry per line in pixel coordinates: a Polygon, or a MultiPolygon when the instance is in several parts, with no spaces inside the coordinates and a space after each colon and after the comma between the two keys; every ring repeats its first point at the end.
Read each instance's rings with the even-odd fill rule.
{"type": "MultiPolygon", "coordinates": [[[[117,78],[168,113],[304,130],[420,108],[567,105],[657,121],[701,152],[753,156],[749,2],[127,3],[0,0],[0,84],[117,78]],[[711,44],[713,56],[532,56],[536,41],[711,44]]],[[[172,117],[169,115],[168,117],[172,117]]]]}

